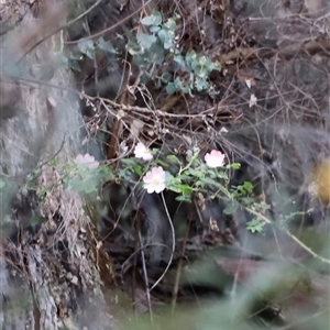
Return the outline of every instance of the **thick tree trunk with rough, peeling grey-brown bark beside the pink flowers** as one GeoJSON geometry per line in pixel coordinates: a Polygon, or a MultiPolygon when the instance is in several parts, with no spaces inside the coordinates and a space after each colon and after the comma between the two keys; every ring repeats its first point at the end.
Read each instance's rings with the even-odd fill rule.
{"type": "Polygon", "coordinates": [[[82,120],[70,75],[50,69],[63,34],[29,52],[65,22],[63,4],[43,6],[48,8],[40,8],[40,15],[28,11],[16,24],[12,20],[20,21],[23,8],[1,2],[8,26],[16,26],[1,44],[0,324],[113,329],[111,305],[118,297],[107,294],[114,288],[112,262],[80,196],[63,189],[61,173],[50,165],[52,160],[66,164],[79,153],[82,120]]]}

